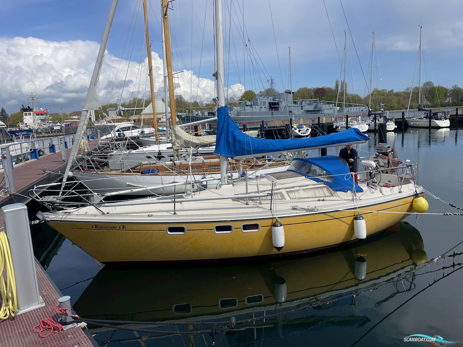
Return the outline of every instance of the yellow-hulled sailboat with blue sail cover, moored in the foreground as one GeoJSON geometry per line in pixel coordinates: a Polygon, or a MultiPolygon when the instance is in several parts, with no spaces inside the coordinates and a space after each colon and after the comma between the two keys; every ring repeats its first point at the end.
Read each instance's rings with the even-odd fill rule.
{"type": "MultiPolygon", "coordinates": [[[[162,3],[169,50],[168,6],[166,0],[162,3]]],[[[214,3],[219,106],[215,153],[220,155],[219,188],[196,195],[87,204],[67,202],[60,192],[59,196],[40,200],[50,212],[40,212],[39,218],[101,262],[130,263],[237,260],[306,253],[363,239],[394,225],[414,209],[426,210],[413,164],[404,161],[394,167],[402,174],[388,174],[390,168],[378,168],[377,162],[365,161],[359,170],[362,172],[358,184],[346,162],[335,156],[294,159],[286,171],[236,184],[229,182],[228,157],[343,146],[364,143],[369,137],[349,129],[316,138],[266,140],[239,131],[227,107],[222,106],[222,7],[220,0],[214,3]]],[[[168,62],[169,82],[171,71],[168,62]]],[[[170,90],[172,104],[173,95],[170,90]]],[[[36,196],[43,188],[32,190],[31,195],[36,196]]]]}

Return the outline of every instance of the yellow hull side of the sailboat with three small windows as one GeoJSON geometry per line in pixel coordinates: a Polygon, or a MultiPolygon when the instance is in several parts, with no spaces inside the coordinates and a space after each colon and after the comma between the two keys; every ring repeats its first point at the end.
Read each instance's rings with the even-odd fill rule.
{"type": "MultiPolygon", "coordinates": [[[[413,196],[360,208],[367,235],[399,222],[413,211],[413,196]],[[381,212],[380,212],[381,211],[381,212]],[[396,212],[396,213],[382,213],[396,212]]],[[[225,260],[304,253],[353,242],[356,209],[279,217],[285,245],[278,252],[272,244],[272,218],[177,223],[95,223],[53,220],[51,227],[102,263],[225,260]],[[255,232],[243,232],[244,223],[258,223],[255,232]],[[231,224],[232,232],[214,233],[214,226],[231,224]],[[167,233],[184,226],[181,235],[167,233]]],[[[178,218],[182,218],[179,216],[178,218]]],[[[180,219],[179,219],[180,221],[180,219]]]]}

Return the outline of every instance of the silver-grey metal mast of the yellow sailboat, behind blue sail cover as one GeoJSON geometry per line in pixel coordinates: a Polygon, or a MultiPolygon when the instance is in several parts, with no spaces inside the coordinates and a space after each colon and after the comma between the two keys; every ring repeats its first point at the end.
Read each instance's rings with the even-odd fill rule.
{"type": "MultiPolygon", "coordinates": [[[[224,39],[222,29],[222,0],[214,0],[215,7],[215,55],[217,61],[217,101],[219,106],[225,106],[225,84],[224,84],[224,39]]],[[[225,155],[220,155],[220,184],[227,183],[226,168],[228,159],[225,155]]]]}

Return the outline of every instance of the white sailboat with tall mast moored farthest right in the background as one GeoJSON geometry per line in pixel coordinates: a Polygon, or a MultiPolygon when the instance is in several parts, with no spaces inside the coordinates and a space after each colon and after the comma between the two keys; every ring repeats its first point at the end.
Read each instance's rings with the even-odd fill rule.
{"type": "MultiPolygon", "coordinates": [[[[412,128],[429,128],[431,121],[431,128],[447,128],[450,127],[450,120],[445,117],[444,112],[431,112],[430,110],[424,110],[421,108],[421,31],[423,25],[419,26],[419,73],[418,73],[418,117],[407,117],[407,124],[412,128]],[[424,115],[421,112],[425,112],[424,115]],[[431,118],[431,119],[430,119],[431,118]]],[[[410,92],[411,94],[412,92],[410,92]]],[[[411,98],[411,95],[410,95],[411,98]]],[[[408,105],[410,107],[410,104],[408,105]]],[[[407,110],[408,113],[408,110],[407,110]]]]}

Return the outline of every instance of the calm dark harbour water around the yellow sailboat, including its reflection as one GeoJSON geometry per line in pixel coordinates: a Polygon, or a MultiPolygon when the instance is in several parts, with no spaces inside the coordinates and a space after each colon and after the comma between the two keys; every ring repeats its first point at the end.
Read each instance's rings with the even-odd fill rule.
{"type": "MultiPolygon", "coordinates": [[[[393,142],[394,133],[388,133],[388,143],[393,142]]],[[[463,206],[458,142],[463,142],[463,128],[395,133],[400,158],[419,162],[419,184],[445,202],[463,206]]],[[[372,140],[356,147],[359,155],[369,156],[375,146],[372,140]]],[[[328,155],[339,149],[328,149],[328,155]]],[[[458,212],[426,198],[428,212],[458,212]]],[[[90,326],[100,346],[211,346],[209,334],[178,334],[212,327],[184,324],[197,321],[236,322],[233,331],[214,338],[216,346],[224,347],[402,346],[404,337],[413,334],[463,341],[463,246],[435,263],[419,265],[463,240],[462,218],[412,215],[381,235],[336,252],[239,266],[102,267],[43,224],[40,234],[34,233],[39,235],[34,250],[80,316],[177,323],[158,327],[169,332],[163,335],[90,326]]]]}

